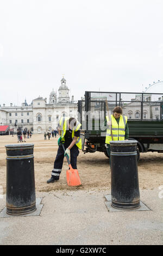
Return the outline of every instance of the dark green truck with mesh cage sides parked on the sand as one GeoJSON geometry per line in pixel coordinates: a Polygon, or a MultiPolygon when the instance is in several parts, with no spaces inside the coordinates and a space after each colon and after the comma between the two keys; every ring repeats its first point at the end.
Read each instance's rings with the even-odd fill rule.
{"type": "Polygon", "coordinates": [[[81,126],[84,154],[103,152],[107,157],[104,125],[107,115],[121,106],[128,117],[129,139],[137,141],[137,161],[140,153],[163,153],[163,93],[85,92],[78,101],[78,121],[81,126]]]}

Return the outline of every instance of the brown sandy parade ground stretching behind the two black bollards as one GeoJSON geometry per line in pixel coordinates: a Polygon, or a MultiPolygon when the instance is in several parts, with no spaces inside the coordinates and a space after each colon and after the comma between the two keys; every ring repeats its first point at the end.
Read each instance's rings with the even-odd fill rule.
{"type": "MultiPolygon", "coordinates": [[[[26,143],[34,143],[34,168],[35,188],[37,192],[54,190],[75,190],[68,187],[66,183],[67,161],[64,160],[60,180],[54,184],[47,184],[51,177],[54,159],[57,155],[58,137],[44,141],[43,135],[33,135],[26,143]]],[[[17,136],[0,136],[0,185],[3,193],[6,188],[6,144],[17,144],[17,136]]],[[[109,171],[109,160],[104,153],[84,153],[80,150],[78,156],[78,170],[82,186],[78,190],[102,190],[110,189],[111,176],[109,171]]],[[[163,184],[163,154],[144,153],[141,154],[138,163],[140,189],[158,188],[163,184]]]]}

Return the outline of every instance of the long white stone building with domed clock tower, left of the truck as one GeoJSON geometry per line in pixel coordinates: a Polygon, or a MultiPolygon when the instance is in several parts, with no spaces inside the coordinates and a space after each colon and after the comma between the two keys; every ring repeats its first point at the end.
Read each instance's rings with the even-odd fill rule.
{"type": "Polygon", "coordinates": [[[70,90],[63,77],[57,92],[52,90],[49,102],[43,97],[37,97],[28,105],[27,101],[22,106],[0,106],[0,123],[9,125],[10,129],[21,127],[33,133],[44,133],[56,129],[62,116],[77,118],[77,103],[74,97],[70,100],[70,90]],[[16,126],[15,126],[16,124],[16,126]]]}

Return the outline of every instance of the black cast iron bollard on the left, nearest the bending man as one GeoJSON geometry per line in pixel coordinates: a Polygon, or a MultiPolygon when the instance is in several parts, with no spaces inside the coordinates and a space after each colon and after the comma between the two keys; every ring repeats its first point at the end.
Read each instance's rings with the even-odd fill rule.
{"type": "Polygon", "coordinates": [[[5,145],[7,151],[7,214],[36,210],[34,144],[5,145]]]}

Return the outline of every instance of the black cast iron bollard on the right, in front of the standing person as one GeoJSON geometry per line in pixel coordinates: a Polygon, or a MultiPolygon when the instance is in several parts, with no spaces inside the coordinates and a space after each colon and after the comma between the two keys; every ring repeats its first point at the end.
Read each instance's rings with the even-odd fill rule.
{"type": "Polygon", "coordinates": [[[116,209],[140,208],[137,172],[137,141],[111,141],[111,206],[116,209]]]}

